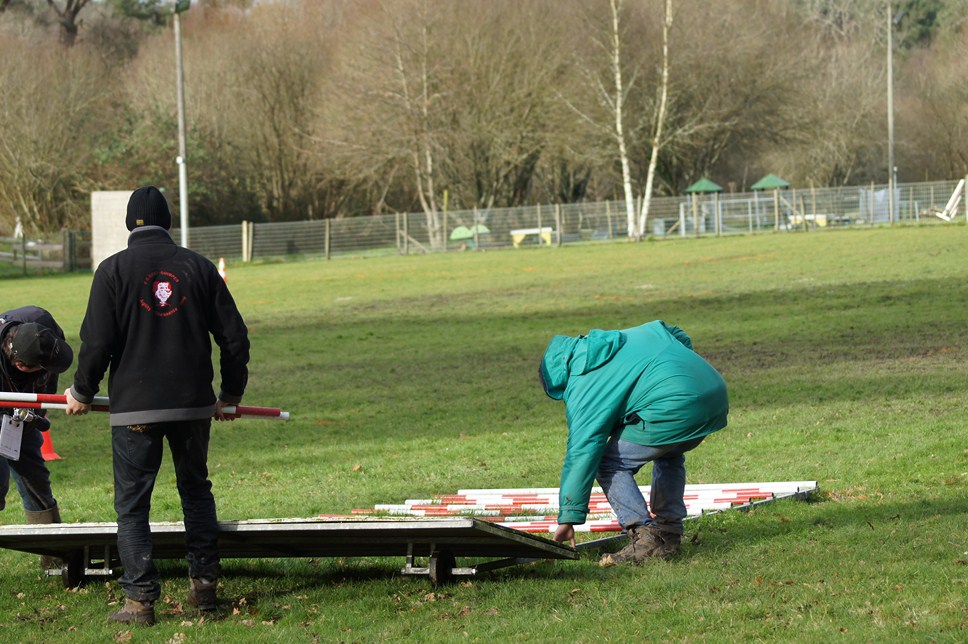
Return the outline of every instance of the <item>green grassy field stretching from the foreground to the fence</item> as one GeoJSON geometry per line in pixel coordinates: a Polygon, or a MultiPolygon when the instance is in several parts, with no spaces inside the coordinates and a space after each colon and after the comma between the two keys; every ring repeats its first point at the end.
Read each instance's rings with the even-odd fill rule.
{"type": "MultiPolygon", "coordinates": [[[[964,642],[966,251],[968,230],[935,226],[229,266],[245,403],[293,420],[216,426],[221,519],[557,486],[548,340],[653,319],[730,386],[730,425],[690,454],[688,482],[821,494],[690,521],[681,558],[633,568],[541,562],[433,589],[402,559],[226,560],[207,620],[166,561],[149,630],[106,622],[115,582],[68,591],[2,551],[0,640],[964,642]]],[[[3,280],[3,306],[50,309],[76,343],[90,279],[3,280]]],[[[107,418],[54,419],[64,519],[113,521],[107,418]]],[[[7,502],[0,520],[22,522],[7,502]]],[[[181,518],[170,461],[152,512],[181,518]]]]}

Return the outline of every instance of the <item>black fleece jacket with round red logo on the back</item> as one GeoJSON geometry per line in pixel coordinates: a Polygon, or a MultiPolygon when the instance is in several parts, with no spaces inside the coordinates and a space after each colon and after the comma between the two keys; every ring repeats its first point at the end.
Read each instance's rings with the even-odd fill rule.
{"type": "Polygon", "coordinates": [[[237,404],[248,382],[248,329],[218,269],[164,228],[135,228],[128,248],[94,274],[71,395],[90,403],[110,366],[112,425],[210,418],[212,338],[218,397],[237,404]]]}

